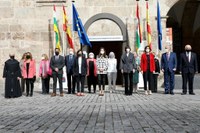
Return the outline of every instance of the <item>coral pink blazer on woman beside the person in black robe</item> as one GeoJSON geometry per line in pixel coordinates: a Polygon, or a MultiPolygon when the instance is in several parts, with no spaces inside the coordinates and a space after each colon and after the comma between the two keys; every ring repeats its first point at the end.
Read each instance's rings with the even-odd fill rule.
{"type": "Polygon", "coordinates": [[[30,61],[30,65],[29,65],[29,70],[28,70],[28,75],[27,75],[27,67],[26,67],[27,61],[24,61],[23,63],[23,69],[22,69],[22,76],[23,78],[33,78],[34,76],[36,76],[36,66],[35,66],[35,60],[31,60],[30,61]]]}

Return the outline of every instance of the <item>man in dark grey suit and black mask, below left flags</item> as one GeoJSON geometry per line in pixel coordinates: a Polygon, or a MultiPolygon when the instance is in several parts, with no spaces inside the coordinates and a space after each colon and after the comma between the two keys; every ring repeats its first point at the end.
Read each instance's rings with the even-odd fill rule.
{"type": "Polygon", "coordinates": [[[60,49],[55,48],[55,55],[51,57],[50,67],[52,69],[52,77],[53,77],[53,93],[52,97],[56,96],[56,86],[57,86],[57,78],[59,81],[59,89],[60,96],[63,97],[63,85],[62,85],[62,77],[63,77],[63,67],[65,66],[65,59],[63,56],[59,55],[60,49]]]}

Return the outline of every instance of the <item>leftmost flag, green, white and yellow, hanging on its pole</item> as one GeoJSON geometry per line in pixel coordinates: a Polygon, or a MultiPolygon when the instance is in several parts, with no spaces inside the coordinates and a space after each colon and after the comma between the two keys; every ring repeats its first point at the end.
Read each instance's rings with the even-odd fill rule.
{"type": "Polygon", "coordinates": [[[60,46],[60,32],[58,29],[58,22],[56,19],[56,6],[54,5],[53,7],[53,29],[55,32],[55,39],[56,39],[56,48],[60,49],[61,51],[61,46],[60,46]]]}

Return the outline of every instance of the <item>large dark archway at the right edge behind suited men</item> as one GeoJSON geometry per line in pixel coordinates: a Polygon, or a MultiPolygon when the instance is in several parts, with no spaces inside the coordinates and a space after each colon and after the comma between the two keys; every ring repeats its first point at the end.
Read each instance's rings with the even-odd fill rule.
{"type": "Polygon", "coordinates": [[[190,44],[198,55],[200,66],[200,1],[179,0],[167,13],[167,27],[173,29],[173,50],[177,53],[178,60],[186,44],[190,44]]]}

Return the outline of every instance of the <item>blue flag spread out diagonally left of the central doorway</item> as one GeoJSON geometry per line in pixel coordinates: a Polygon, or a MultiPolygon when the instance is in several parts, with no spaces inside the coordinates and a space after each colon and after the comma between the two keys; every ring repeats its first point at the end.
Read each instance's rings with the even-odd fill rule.
{"type": "Polygon", "coordinates": [[[72,8],[73,8],[73,30],[78,32],[80,44],[92,47],[74,4],[72,4],[72,8]]]}

